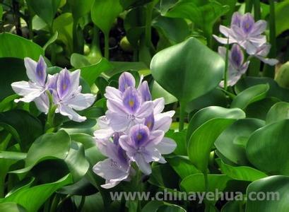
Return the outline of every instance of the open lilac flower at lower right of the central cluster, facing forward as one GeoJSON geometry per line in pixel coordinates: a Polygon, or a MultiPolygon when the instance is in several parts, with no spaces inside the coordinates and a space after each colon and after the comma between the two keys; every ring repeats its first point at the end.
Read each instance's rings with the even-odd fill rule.
{"type": "Polygon", "coordinates": [[[128,135],[120,136],[119,144],[126,151],[126,155],[136,162],[141,172],[150,175],[151,162],[165,163],[165,159],[156,148],[163,136],[163,131],[150,131],[147,126],[136,124],[131,127],[128,135]]]}

